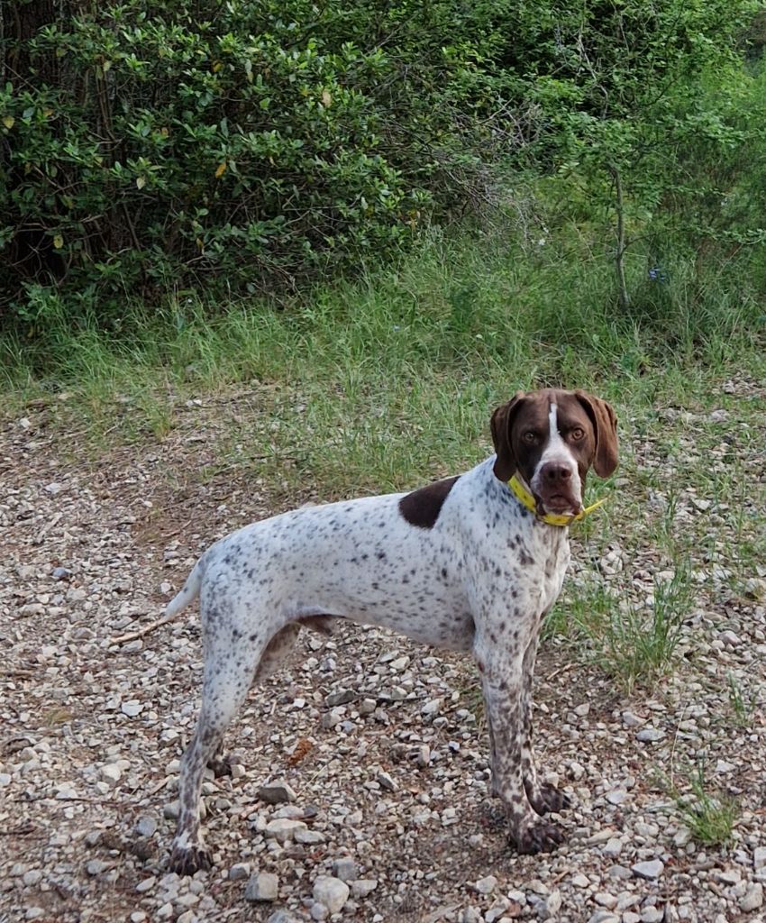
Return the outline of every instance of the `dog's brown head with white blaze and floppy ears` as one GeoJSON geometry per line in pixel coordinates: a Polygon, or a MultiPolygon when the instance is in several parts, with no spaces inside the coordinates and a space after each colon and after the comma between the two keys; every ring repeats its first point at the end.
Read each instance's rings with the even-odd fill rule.
{"type": "Polygon", "coordinates": [[[608,477],[617,466],[615,412],[585,391],[520,391],[491,426],[496,476],[517,474],[543,513],[579,513],[588,470],[608,477]]]}

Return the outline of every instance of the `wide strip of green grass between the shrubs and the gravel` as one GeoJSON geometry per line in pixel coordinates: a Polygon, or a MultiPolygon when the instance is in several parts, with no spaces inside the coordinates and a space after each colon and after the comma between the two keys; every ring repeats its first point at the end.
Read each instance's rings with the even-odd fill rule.
{"type": "Polygon", "coordinates": [[[544,248],[434,234],[396,267],[283,306],[211,314],[186,293],[153,314],[126,306],[118,331],[49,318],[44,336],[0,338],[0,374],[11,408],[48,402],[97,446],[161,441],[177,402],[253,388],[237,463],[268,480],[277,462],[288,489],[326,497],[385,490],[481,458],[490,410],[518,389],[590,387],[643,417],[704,400],[729,367],[763,370],[750,294],[722,289],[701,310],[682,268],[660,294],[643,273],[632,266],[636,312],[622,317],[608,263],[573,233],[544,248]]]}

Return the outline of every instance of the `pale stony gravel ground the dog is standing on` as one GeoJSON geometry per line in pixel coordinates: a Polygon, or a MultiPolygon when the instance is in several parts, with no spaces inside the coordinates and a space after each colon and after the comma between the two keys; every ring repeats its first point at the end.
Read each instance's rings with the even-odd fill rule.
{"type": "MultiPolygon", "coordinates": [[[[731,385],[729,409],[704,421],[728,439],[722,452],[742,436],[740,390],[743,414],[763,405],[762,391],[731,385]]],[[[26,414],[0,431],[0,920],[766,918],[766,570],[746,564],[740,592],[705,543],[678,665],[659,686],[628,697],[576,646],[545,644],[538,761],[574,801],[557,853],[509,851],[487,799],[472,665],[343,627],[330,641],[302,634],[292,668],[253,690],[227,741],[232,776],[204,787],[215,868],[169,874],[178,761],[197,712],[196,608],[143,641],[109,639],[157,617],[204,546],[267,510],[241,473],[190,475],[225,429],[215,408],[181,404],[161,447],[103,450],[98,462],[47,425],[44,406],[26,414]],[[680,767],[701,754],[706,785],[737,800],[725,846],[696,842],[668,794],[668,778],[688,789],[680,767]]],[[[756,498],[762,420],[747,443],[760,454],[745,460],[756,498]]],[[[691,434],[690,423],[679,425],[691,434]]],[[[665,464],[651,432],[631,458],[665,464]]],[[[682,491],[676,521],[705,502],[682,491]]],[[[714,538],[735,541],[726,509],[705,514],[714,538]]],[[[651,545],[638,556],[615,541],[593,562],[581,541],[574,551],[569,593],[594,575],[624,587],[627,574],[640,596],[667,567],[651,545]]]]}

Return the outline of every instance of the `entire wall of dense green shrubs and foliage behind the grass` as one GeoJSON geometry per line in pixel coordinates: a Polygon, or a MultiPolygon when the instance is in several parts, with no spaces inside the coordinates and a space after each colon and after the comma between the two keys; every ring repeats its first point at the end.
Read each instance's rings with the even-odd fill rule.
{"type": "Polygon", "coordinates": [[[736,73],[753,0],[7,6],[0,312],[28,323],[113,323],[198,280],[292,288],[508,195],[522,167],[574,174],[618,219],[624,276],[631,220],[689,212],[691,141],[710,164],[752,137],[736,94],[724,111],[700,87],[736,73]]]}

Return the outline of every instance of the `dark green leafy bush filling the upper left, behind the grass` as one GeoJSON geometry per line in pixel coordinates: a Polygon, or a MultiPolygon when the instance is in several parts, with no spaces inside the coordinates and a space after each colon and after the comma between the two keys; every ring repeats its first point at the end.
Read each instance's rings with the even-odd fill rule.
{"type": "Polygon", "coordinates": [[[10,42],[0,88],[0,298],[30,321],[52,281],[74,315],[201,277],[291,287],[476,195],[497,98],[477,12],[64,6],[10,42]]]}

